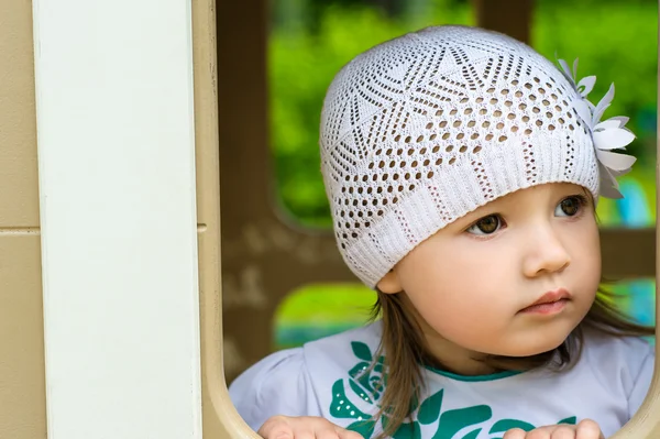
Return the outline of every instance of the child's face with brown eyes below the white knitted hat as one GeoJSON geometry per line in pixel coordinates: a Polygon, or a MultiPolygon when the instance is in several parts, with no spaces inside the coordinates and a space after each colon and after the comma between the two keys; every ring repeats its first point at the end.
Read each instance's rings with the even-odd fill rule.
{"type": "Polygon", "coordinates": [[[378,287],[404,290],[432,353],[465,369],[462,353],[527,356],[557,348],[588,311],[600,278],[593,202],[582,187],[562,183],[518,190],[457,220],[378,287]],[[570,297],[528,308],[549,292],[570,297]]]}

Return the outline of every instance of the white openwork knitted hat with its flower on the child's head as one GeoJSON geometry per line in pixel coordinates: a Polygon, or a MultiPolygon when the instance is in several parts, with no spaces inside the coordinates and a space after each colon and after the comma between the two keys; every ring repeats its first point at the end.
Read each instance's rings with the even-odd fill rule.
{"type": "Polygon", "coordinates": [[[506,194],[566,182],[597,199],[607,176],[616,196],[612,174],[631,162],[596,151],[594,135],[620,138],[603,150],[634,136],[625,143],[627,119],[598,124],[584,99],[594,81],[575,85],[529,46],[476,28],[428,28],[355,57],[328,90],[320,136],[345,263],[374,287],[421,241],[506,194]]]}

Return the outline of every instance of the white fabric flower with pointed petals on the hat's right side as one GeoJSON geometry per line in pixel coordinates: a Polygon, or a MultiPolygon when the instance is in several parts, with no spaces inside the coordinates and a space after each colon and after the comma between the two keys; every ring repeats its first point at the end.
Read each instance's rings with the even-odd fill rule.
{"type": "Polygon", "coordinates": [[[609,90],[603,99],[594,106],[586,99],[586,96],[593,90],[596,77],[587,76],[576,81],[578,59],[573,62],[573,72],[571,72],[565,61],[559,59],[559,64],[566,78],[582,97],[582,100],[576,101],[574,106],[578,116],[587,124],[592,133],[596,157],[598,158],[601,195],[607,198],[623,198],[624,196],[618,190],[619,186],[616,177],[628,173],[637,158],[631,155],[612,152],[612,150],[625,150],[625,146],[635,140],[635,134],[626,128],[629,118],[618,116],[601,121],[603,113],[614,98],[614,84],[609,86],[609,90]]]}

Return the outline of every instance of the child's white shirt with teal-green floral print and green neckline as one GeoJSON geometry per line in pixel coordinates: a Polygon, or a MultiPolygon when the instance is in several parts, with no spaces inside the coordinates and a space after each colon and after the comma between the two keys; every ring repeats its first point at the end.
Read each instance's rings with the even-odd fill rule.
{"type": "MultiPolygon", "coordinates": [[[[254,430],[275,415],[321,416],[369,439],[382,431],[372,416],[382,393],[382,367],[369,375],[381,323],[276,352],[230,386],[239,414],[254,430]]],[[[458,376],[424,369],[426,392],[413,426],[395,439],[495,439],[514,427],[526,430],[584,418],[605,437],[626,424],[646,397],[653,374],[652,347],[641,339],[588,333],[582,356],[565,372],[532,370],[458,376]]],[[[405,404],[402,402],[402,404],[405,404]]]]}

